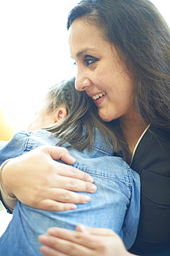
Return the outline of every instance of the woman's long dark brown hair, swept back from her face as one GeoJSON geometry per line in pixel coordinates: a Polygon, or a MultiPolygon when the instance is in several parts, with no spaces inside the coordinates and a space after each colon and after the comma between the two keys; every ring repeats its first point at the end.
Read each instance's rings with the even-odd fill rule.
{"type": "Polygon", "coordinates": [[[67,19],[82,18],[114,44],[134,77],[134,103],[146,124],[170,130],[170,33],[148,0],[83,0],[67,19]]]}

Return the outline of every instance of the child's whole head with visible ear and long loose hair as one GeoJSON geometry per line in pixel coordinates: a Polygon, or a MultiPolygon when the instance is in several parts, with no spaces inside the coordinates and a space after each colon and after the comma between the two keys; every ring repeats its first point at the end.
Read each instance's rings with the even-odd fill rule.
{"type": "Polygon", "coordinates": [[[105,142],[114,145],[114,152],[121,151],[125,156],[127,149],[124,143],[100,119],[92,98],[85,91],[77,91],[74,82],[73,77],[48,90],[43,106],[28,129],[51,131],[52,136],[61,138],[59,145],[67,141],[82,151],[86,147],[92,149],[96,127],[103,134],[105,142]]]}

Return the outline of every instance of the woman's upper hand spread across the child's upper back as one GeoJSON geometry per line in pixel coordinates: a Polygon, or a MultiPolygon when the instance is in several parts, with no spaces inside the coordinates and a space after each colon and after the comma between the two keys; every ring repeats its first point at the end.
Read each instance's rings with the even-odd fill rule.
{"type": "Polygon", "coordinates": [[[1,174],[6,192],[25,205],[43,210],[71,210],[76,208],[74,203],[87,203],[89,196],[72,191],[95,192],[92,177],[53,159],[76,162],[67,149],[46,146],[10,160],[1,174]]]}

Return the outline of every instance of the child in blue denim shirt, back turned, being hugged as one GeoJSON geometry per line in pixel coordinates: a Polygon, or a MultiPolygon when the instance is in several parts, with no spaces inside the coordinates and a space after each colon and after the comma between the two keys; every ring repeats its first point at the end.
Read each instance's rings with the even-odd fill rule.
{"type": "Polygon", "coordinates": [[[116,152],[126,157],[123,142],[100,120],[92,99],[74,89],[74,78],[52,86],[30,129],[36,130],[20,131],[1,147],[1,163],[41,145],[66,147],[76,158],[73,166],[89,173],[98,190],[89,203],[65,212],[34,209],[18,201],[1,237],[0,255],[41,255],[39,235],[50,226],[74,230],[77,223],[111,228],[129,249],[138,229],[140,179],[114,156],[116,152]]]}

